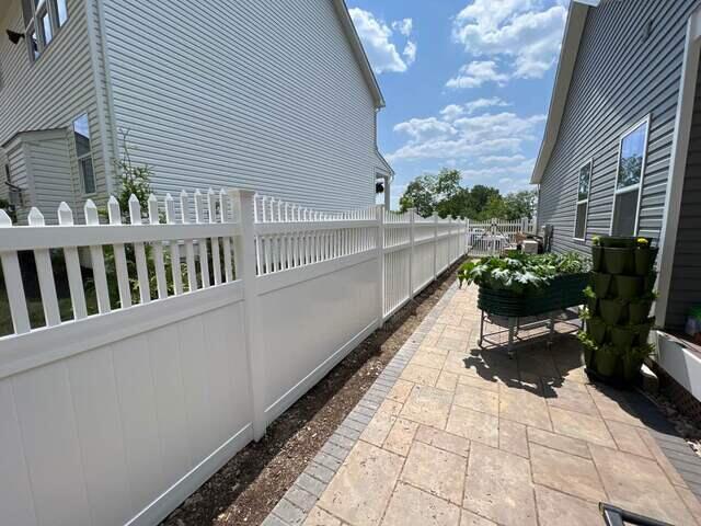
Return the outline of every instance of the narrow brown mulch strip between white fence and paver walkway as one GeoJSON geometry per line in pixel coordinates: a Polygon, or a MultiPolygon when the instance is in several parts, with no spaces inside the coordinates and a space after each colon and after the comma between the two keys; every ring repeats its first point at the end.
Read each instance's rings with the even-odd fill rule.
{"type": "Polygon", "coordinates": [[[457,266],[370,334],[162,525],[260,525],[452,285],[457,266]]]}

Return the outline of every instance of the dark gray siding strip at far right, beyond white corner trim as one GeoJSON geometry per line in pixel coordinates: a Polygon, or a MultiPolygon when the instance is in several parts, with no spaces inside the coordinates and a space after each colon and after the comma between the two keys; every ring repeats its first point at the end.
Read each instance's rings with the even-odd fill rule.
{"type": "Polygon", "coordinates": [[[689,309],[701,305],[701,79],[697,79],[687,171],[669,284],[666,324],[682,329],[689,309]]]}

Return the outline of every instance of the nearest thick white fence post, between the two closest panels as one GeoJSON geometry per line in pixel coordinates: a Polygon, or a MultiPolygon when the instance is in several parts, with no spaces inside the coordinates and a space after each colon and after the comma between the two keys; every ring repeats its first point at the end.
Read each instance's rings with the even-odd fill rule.
{"type": "Polygon", "coordinates": [[[241,235],[234,237],[234,268],[237,278],[242,281],[244,297],[245,346],[249,357],[251,378],[251,398],[253,401],[253,439],[265,435],[265,356],[261,340],[261,307],[255,267],[255,216],[253,209],[254,192],[250,190],[229,190],[234,209],[234,218],[241,226],[241,235]]]}

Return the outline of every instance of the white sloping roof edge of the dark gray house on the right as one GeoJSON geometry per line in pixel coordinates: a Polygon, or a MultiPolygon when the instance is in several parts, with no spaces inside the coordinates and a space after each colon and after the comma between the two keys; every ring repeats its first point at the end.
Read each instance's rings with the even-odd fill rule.
{"type": "Polygon", "coordinates": [[[560,125],[562,124],[562,116],[567,103],[570,84],[577,61],[579,42],[582,41],[588,11],[589,7],[583,3],[572,2],[570,4],[565,32],[562,36],[562,47],[560,49],[560,59],[558,60],[555,82],[550,96],[548,121],[545,122],[545,130],[543,132],[543,139],[540,144],[533,173],[530,178],[531,184],[539,184],[542,180],[545,168],[548,168],[548,162],[550,161],[550,156],[558,141],[560,125]]]}

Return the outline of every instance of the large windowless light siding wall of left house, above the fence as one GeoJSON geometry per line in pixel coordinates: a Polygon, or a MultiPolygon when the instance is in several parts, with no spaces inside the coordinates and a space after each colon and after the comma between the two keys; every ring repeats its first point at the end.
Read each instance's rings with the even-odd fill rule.
{"type": "Polygon", "coordinates": [[[372,204],[375,107],[332,1],[212,3],[104,4],[116,127],[153,188],[372,204]]]}

